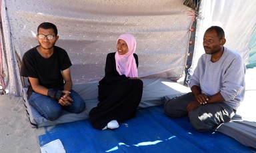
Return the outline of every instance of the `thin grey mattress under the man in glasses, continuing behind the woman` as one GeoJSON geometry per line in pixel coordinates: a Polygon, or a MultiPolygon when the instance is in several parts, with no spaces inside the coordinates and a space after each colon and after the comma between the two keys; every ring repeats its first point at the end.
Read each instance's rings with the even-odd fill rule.
{"type": "MultiPolygon", "coordinates": [[[[66,122],[74,122],[77,120],[85,120],[89,118],[91,108],[97,106],[98,100],[98,82],[89,82],[86,84],[75,84],[73,90],[78,92],[83,100],[85,100],[86,108],[80,114],[73,114],[63,110],[63,114],[57,120],[47,120],[27,101],[27,88],[23,88],[23,99],[27,116],[32,127],[52,126],[66,122]]],[[[177,82],[173,82],[167,78],[143,78],[143,95],[139,108],[149,106],[158,106],[163,104],[164,98],[174,98],[181,96],[190,91],[190,88],[183,86],[177,82]]]]}

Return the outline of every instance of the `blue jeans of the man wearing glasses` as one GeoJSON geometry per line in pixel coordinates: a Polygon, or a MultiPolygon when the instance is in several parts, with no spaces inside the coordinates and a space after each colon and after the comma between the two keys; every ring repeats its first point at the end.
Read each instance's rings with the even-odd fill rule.
{"type": "Polygon", "coordinates": [[[63,109],[75,114],[79,114],[85,110],[85,101],[77,92],[71,90],[69,96],[73,99],[70,106],[61,106],[57,100],[43,94],[38,94],[37,92],[33,92],[28,101],[44,118],[47,120],[56,120],[61,116],[63,109]]]}

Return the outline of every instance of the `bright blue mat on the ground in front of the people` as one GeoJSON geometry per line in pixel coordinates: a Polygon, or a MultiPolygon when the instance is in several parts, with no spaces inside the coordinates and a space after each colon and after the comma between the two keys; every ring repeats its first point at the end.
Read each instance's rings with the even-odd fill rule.
{"type": "Polygon", "coordinates": [[[163,106],[137,110],[137,116],[115,130],[96,130],[89,120],[45,128],[40,146],[60,139],[69,152],[253,152],[219,132],[201,133],[189,119],[169,118],[163,106]]]}

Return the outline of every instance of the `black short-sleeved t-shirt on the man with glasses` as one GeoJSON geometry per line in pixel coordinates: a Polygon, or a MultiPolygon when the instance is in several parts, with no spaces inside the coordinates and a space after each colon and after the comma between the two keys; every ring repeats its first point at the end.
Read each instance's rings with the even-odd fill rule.
{"type": "MultiPolygon", "coordinates": [[[[21,64],[21,76],[38,78],[39,84],[46,88],[59,88],[64,80],[61,71],[71,67],[69,55],[64,49],[54,47],[53,55],[48,59],[42,57],[34,47],[23,55],[21,64]]],[[[27,94],[33,89],[29,85],[27,94]]]]}

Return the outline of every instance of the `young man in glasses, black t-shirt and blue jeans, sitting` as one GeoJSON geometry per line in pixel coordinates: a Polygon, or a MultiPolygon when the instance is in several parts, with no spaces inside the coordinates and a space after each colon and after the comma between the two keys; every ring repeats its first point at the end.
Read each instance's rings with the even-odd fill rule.
{"type": "Polygon", "coordinates": [[[62,109],[72,113],[85,110],[85,102],[72,90],[67,52],[55,46],[59,39],[53,23],[41,23],[37,28],[39,45],[23,55],[21,76],[28,77],[27,98],[47,120],[56,120],[62,109]]]}

